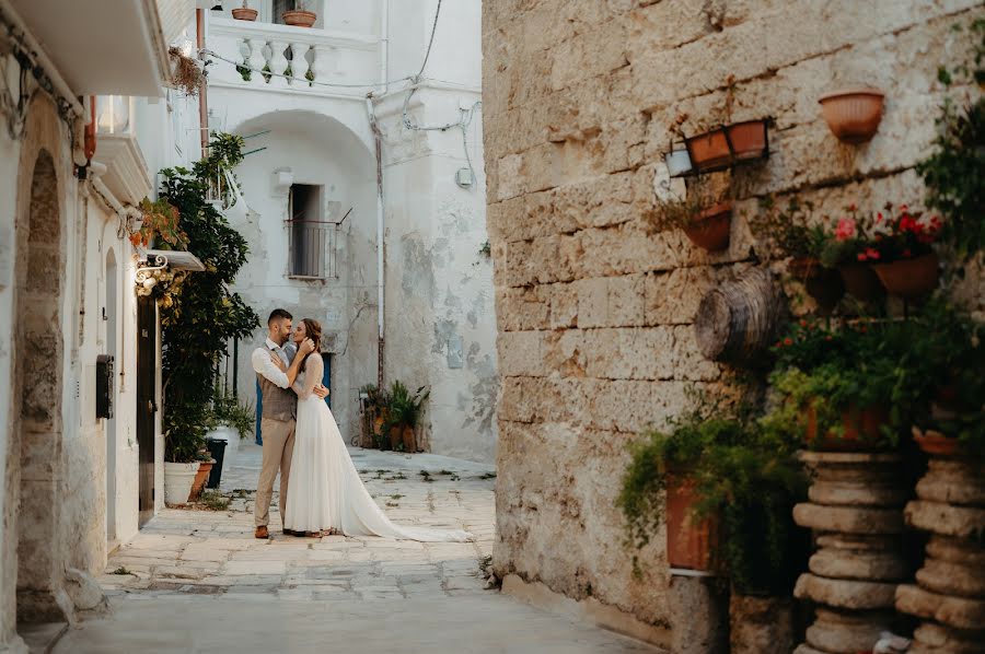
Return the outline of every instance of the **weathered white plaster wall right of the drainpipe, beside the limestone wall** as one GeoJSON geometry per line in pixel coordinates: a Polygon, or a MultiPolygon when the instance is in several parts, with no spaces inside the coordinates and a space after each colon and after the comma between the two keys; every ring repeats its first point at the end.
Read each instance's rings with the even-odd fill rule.
{"type": "MultiPolygon", "coordinates": [[[[391,77],[415,74],[437,2],[391,4],[391,77]],[[414,70],[412,70],[414,69],[414,70]]],[[[487,241],[480,116],[479,2],[444,3],[422,83],[408,106],[418,126],[464,130],[476,183],[455,184],[467,167],[463,131],[408,129],[408,91],[378,103],[384,131],[386,197],[386,379],[430,388],[420,437],[434,453],[493,460],[498,378],[491,262],[487,241]]]]}

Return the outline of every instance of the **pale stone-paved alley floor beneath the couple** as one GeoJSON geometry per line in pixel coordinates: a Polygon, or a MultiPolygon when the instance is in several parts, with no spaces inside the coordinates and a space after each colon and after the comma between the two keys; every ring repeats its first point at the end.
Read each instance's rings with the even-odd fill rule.
{"type": "Polygon", "coordinates": [[[70,630],[56,653],[338,651],[654,652],[488,588],[491,468],[447,457],[352,449],[392,519],[465,528],[476,542],[253,538],[260,448],[223,472],[223,511],[165,510],[117,550],[100,580],[112,612],[70,630]]]}

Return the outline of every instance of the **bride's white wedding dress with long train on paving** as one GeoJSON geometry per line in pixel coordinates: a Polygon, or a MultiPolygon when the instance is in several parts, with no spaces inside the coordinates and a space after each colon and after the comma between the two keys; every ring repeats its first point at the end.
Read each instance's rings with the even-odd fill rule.
{"type": "Polygon", "coordinates": [[[293,385],[298,418],[283,527],[425,542],[473,540],[472,534],[460,529],[404,527],[390,522],[359,478],[328,405],[312,393],[322,379],[323,366],[321,357],[309,357],[293,385]]]}

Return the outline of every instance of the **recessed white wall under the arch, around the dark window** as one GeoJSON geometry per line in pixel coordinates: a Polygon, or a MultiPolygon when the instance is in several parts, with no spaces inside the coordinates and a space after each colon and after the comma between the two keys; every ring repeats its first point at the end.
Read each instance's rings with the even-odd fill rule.
{"type": "Polygon", "coordinates": [[[250,354],[266,338],[270,311],[287,308],[296,322],[315,318],[322,323],[322,350],[333,353],[332,408],[348,441],[359,429],[358,389],[376,378],[375,166],[359,138],[325,115],[277,113],[240,127],[242,133],[265,129],[271,132],[251,140],[250,147],[267,150],[247,156],[236,170],[250,212],[241,207],[229,212],[250,244],[235,290],[263,323],[253,340],[240,344],[240,396],[256,401],[250,354]],[[352,209],[337,232],[337,278],[288,277],[288,189],[274,185],[279,168],[290,168],[296,184],[323,186],[321,220],[338,221],[352,209]]]}

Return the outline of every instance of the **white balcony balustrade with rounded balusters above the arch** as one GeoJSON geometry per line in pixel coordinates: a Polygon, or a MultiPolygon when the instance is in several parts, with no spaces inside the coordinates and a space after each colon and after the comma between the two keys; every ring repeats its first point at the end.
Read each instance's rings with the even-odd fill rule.
{"type": "Polygon", "coordinates": [[[363,97],[369,86],[346,85],[379,75],[372,35],[213,17],[207,46],[221,58],[209,67],[210,86],[363,97]]]}

